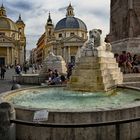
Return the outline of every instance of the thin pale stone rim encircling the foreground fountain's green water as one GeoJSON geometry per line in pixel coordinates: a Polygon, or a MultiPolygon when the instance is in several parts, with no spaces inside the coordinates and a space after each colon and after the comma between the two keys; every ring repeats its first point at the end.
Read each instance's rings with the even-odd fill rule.
{"type": "MultiPolygon", "coordinates": [[[[12,91],[7,91],[7,92],[3,92],[0,94],[0,102],[7,102],[6,99],[4,99],[6,96],[10,95],[10,94],[14,94],[16,92],[20,92],[20,91],[23,91],[23,90],[30,90],[30,89],[38,89],[38,88],[53,88],[53,87],[66,87],[66,85],[53,85],[53,86],[32,86],[32,87],[27,87],[27,88],[22,88],[22,89],[17,89],[17,90],[12,90],[12,91]]],[[[138,87],[133,87],[133,86],[127,86],[127,85],[118,85],[116,88],[122,88],[122,89],[130,89],[130,90],[135,90],[135,91],[140,91],[140,88],[138,87]]],[[[10,102],[9,102],[10,103],[10,102]]],[[[22,110],[26,110],[26,111],[37,111],[37,110],[47,110],[49,112],[68,112],[68,113],[74,113],[74,112],[102,112],[102,111],[115,111],[115,110],[123,110],[123,109],[130,109],[130,108],[135,108],[135,107],[138,107],[140,106],[140,102],[138,103],[130,103],[130,104],[126,104],[126,105],[123,105],[122,107],[116,107],[116,108],[93,108],[93,109],[88,109],[88,110],[82,110],[82,109],[50,109],[50,108],[33,108],[33,107],[25,107],[25,106],[20,106],[20,105],[14,105],[14,108],[15,109],[22,109],[22,110]]]]}

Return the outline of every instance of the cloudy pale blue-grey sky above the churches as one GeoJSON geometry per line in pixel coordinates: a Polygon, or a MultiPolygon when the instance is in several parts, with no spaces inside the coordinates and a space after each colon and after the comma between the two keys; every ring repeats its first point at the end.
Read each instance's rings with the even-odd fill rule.
{"type": "Polygon", "coordinates": [[[1,0],[1,3],[6,8],[7,17],[13,21],[21,14],[26,24],[27,50],[36,47],[39,37],[45,31],[49,12],[55,26],[65,18],[70,3],[75,17],[87,25],[88,31],[99,28],[103,38],[109,33],[110,0],[1,0]]]}

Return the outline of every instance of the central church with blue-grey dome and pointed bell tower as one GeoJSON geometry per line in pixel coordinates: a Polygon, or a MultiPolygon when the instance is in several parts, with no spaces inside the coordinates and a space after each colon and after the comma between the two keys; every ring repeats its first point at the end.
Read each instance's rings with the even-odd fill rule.
{"type": "MultiPolygon", "coordinates": [[[[82,47],[88,38],[86,24],[81,19],[74,16],[74,9],[71,4],[67,7],[66,17],[58,21],[56,26],[53,25],[49,13],[44,34],[41,37],[44,38],[43,49],[41,49],[42,45],[38,45],[43,44],[41,43],[41,38],[37,43],[38,51],[41,50],[42,52],[41,61],[43,61],[51,51],[55,55],[61,55],[66,63],[75,63],[78,49],[82,47]]],[[[37,63],[41,64],[41,61],[37,63]]]]}

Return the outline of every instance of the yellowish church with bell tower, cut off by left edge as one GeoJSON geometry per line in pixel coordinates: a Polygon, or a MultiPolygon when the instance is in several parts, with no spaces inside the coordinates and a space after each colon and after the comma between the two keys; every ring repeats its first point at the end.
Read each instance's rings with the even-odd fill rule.
{"type": "Polygon", "coordinates": [[[22,65],[25,61],[25,24],[19,16],[14,22],[7,17],[6,9],[0,7],[0,65],[22,65]]]}

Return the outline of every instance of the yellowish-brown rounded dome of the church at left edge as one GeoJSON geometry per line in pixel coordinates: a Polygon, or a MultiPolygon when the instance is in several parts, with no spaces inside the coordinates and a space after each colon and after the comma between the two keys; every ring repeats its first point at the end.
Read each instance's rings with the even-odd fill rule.
{"type": "Polygon", "coordinates": [[[0,29],[18,31],[16,24],[7,17],[0,17],[0,29]]]}

